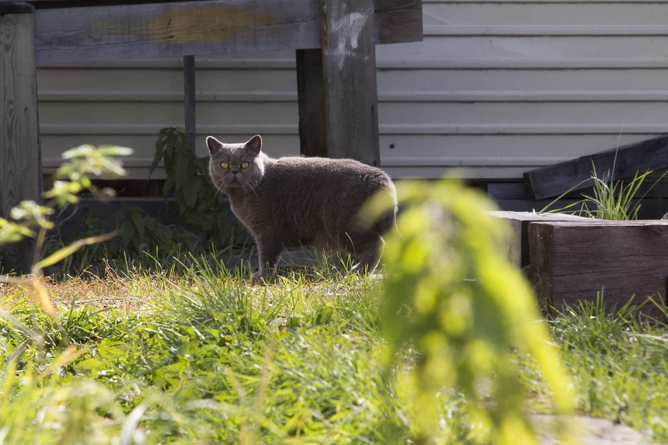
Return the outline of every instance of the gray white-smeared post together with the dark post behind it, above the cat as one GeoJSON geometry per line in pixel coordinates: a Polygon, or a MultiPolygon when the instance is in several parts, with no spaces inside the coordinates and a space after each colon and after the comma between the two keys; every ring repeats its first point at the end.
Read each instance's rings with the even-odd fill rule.
{"type": "Polygon", "coordinates": [[[322,49],[297,52],[303,154],[380,165],[373,0],[320,0],[322,49]],[[321,70],[317,58],[321,57],[321,70]]]}

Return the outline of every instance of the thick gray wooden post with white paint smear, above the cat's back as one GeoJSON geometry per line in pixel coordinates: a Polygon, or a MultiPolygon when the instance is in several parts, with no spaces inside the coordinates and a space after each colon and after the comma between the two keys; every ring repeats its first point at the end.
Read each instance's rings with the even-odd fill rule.
{"type": "Polygon", "coordinates": [[[327,154],[381,165],[373,0],[320,0],[327,154]]]}

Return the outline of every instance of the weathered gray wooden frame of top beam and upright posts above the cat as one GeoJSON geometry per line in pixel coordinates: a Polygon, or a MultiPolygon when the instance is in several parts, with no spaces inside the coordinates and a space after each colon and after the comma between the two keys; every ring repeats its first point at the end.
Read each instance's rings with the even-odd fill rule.
{"type": "MultiPolygon", "coordinates": [[[[375,44],[422,40],[422,0],[0,0],[0,216],[42,190],[36,65],[296,51],[301,152],[380,165],[375,44]]],[[[1,252],[28,270],[27,244],[1,252]]]]}

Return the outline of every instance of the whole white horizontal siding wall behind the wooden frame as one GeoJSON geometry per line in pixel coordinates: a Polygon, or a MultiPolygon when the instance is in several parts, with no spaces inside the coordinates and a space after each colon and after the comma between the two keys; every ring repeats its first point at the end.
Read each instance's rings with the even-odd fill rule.
{"type": "MultiPolygon", "coordinates": [[[[381,162],[393,177],[522,172],[668,133],[667,2],[424,1],[424,41],[377,47],[381,162]],[[393,148],[392,148],[393,147],[393,148]]],[[[294,52],[196,58],[203,138],[299,153],[294,52]]],[[[134,147],[184,122],[180,60],[40,67],[45,168],[80,143],[134,147]]]]}

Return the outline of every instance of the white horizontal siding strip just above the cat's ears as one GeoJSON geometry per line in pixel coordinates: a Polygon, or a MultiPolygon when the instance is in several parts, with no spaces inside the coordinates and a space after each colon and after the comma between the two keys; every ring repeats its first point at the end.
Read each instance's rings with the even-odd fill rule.
{"type": "MultiPolygon", "coordinates": [[[[40,107],[40,118],[53,127],[60,125],[109,125],[132,127],[137,122],[154,125],[180,126],[183,106],[179,102],[109,102],[105,106],[77,102],[47,102],[40,107]]],[[[217,125],[258,127],[298,123],[294,103],[267,106],[257,103],[232,102],[197,105],[198,125],[202,128],[217,125]]],[[[668,102],[569,102],[552,103],[459,103],[459,102],[385,102],[379,105],[381,126],[432,125],[525,125],[540,127],[610,125],[617,132],[625,127],[643,125],[665,126],[668,129],[668,102]]]]}

